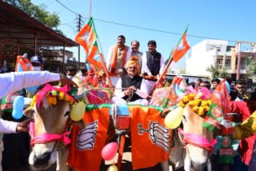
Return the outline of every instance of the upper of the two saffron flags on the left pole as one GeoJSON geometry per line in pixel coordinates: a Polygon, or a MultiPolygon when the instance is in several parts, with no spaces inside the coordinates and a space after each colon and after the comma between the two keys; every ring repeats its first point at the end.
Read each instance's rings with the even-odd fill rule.
{"type": "Polygon", "coordinates": [[[90,18],[86,26],[84,26],[82,30],[80,30],[76,35],[75,41],[78,42],[79,45],[83,46],[83,48],[86,51],[86,54],[88,54],[94,46],[96,39],[97,34],[94,30],[94,20],[93,18],[90,18]]]}

